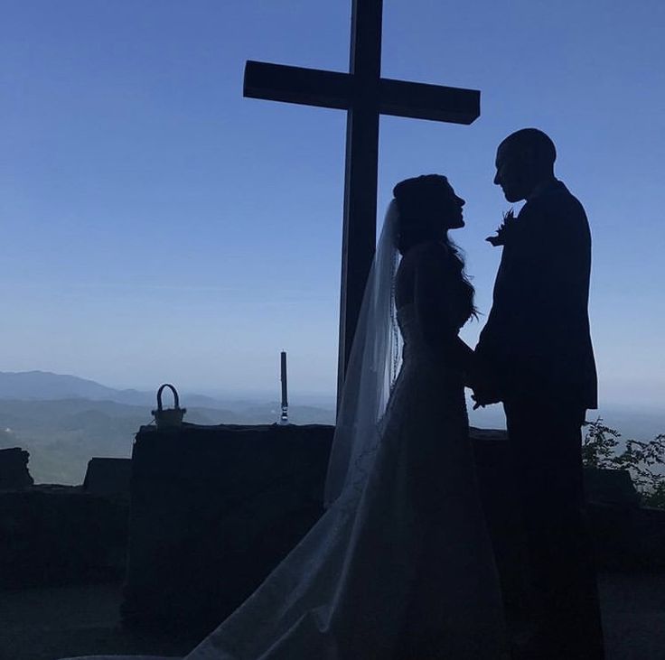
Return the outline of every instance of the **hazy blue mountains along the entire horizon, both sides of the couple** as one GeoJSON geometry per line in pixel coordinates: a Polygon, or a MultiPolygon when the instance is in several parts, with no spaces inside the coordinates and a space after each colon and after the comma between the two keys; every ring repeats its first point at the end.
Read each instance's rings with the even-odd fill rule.
{"type": "MultiPolygon", "coordinates": [[[[0,449],[29,451],[31,473],[39,483],[79,484],[91,457],[129,457],[139,427],[153,421],[155,388],[127,392],[75,375],[72,380],[72,375],[43,371],[19,373],[18,379],[14,376],[0,372],[0,449]]],[[[281,413],[276,392],[178,388],[188,423],[270,424],[281,413]],[[213,398],[197,397],[201,394],[213,398]]],[[[291,392],[289,404],[291,423],[334,423],[333,395],[291,392]]],[[[170,393],[166,393],[164,405],[172,405],[170,393]]],[[[467,405],[472,426],[505,428],[501,405],[473,411],[468,391],[467,405]]],[[[586,415],[589,422],[598,417],[621,433],[623,440],[650,441],[665,432],[662,408],[605,404],[586,415]]]]}

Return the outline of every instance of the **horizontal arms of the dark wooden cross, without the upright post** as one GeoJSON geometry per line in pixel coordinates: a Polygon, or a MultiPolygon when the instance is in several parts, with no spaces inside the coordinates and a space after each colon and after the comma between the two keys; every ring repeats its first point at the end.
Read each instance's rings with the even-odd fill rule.
{"type": "MultiPolygon", "coordinates": [[[[481,93],[421,82],[379,79],[377,110],[382,115],[471,124],[481,113],[481,93]]],[[[249,60],[243,93],[248,98],[347,110],[357,97],[350,73],[289,67],[249,60]]]]}

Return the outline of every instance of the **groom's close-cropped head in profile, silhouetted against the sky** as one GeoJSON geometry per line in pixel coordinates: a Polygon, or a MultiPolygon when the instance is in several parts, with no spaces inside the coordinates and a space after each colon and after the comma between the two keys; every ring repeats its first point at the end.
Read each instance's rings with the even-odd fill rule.
{"type": "Polygon", "coordinates": [[[494,183],[508,201],[526,200],[542,181],[554,177],[557,149],[538,128],[510,134],[496,151],[494,183]]]}

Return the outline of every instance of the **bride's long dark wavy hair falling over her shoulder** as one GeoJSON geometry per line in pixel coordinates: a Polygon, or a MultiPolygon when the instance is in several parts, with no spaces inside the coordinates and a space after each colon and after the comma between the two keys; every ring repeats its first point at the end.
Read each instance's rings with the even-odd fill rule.
{"type": "Polygon", "coordinates": [[[417,243],[426,240],[441,241],[459,264],[463,283],[465,318],[477,318],[478,311],[473,304],[473,284],[464,272],[464,255],[460,248],[448,236],[445,218],[441,217],[440,200],[442,194],[453,196],[454,191],[443,174],[423,174],[405,179],[393,188],[392,194],[398,207],[397,248],[404,255],[417,243]]]}

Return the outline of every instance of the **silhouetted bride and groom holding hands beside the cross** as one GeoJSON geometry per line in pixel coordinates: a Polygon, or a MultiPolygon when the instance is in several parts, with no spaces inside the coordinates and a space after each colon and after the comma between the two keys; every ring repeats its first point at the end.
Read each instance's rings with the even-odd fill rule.
{"type": "Polygon", "coordinates": [[[326,510],[191,660],[598,660],[583,522],[580,427],[595,407],[585,212],[547,135],[498,150],[511,202],[475,352],[458,332],[473,287],[448,230],[464,200],[443,176],[402,181],[377,247],[333,441],[326,510]],[[403,342],[403,348],[401,346],[403,342]],[[400,365],[401,359],[401,365],[400,365]],[[464,385],[502,402],[533,589],[511,643],[475,477],[464,385]],[[525,616],[522,616],[525,619],[525,616]]]}

